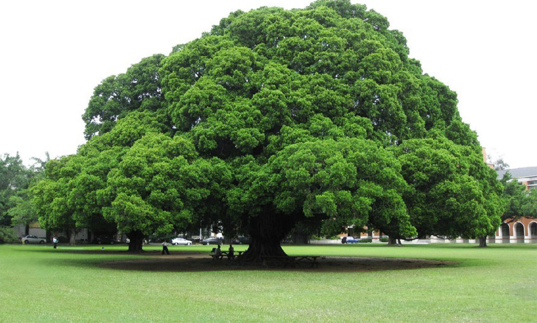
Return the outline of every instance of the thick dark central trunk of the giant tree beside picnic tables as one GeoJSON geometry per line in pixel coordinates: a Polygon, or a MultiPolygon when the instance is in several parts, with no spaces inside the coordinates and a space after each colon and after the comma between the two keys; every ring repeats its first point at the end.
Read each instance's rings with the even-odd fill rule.
{"type": "Polygon", "coordinates": [[[250,246],[242,261],[262,261],[263,256],[287,256],[280,242],[293,228],[292,216],[263,212],[250,218],[250,246]]]}

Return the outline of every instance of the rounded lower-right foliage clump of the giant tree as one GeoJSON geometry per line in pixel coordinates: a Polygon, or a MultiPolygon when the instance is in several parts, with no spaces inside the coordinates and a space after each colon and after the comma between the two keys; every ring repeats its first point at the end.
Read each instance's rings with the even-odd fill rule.
{"type": "Polygon", "coordinates": [[[438,137],[393,150],[410,184],[404,200],[419,237],[485,237],[500,225],[502,187],[472,146],[438,137]]]}

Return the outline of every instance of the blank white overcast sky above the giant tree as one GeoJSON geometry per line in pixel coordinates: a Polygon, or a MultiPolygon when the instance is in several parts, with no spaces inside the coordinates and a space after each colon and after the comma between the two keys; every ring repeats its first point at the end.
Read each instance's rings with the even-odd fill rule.
{"type": "MultiPolygon", "coordinates": [[[[353,3],[357,1],[352,0],[353,3]]],[[[2,1],[0,154],[69,155],[107,76],[198,38],[229,12],[307,1],[2,1]]],[[[458,93],[463,121],[492,158],[537,166],[534,1],[361,0],[404,33],[410,56],[458,93]]]]}

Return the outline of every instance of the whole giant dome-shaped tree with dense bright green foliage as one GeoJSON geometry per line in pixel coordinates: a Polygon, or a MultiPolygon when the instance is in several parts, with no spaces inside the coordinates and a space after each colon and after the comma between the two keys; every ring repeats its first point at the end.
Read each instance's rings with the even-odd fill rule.
{"type": "Polygon", "coordinates": [[[236,11],[106,78],[83,115],[88,143],[35,190],[41,222],[114,223],[131,250],[151,233],[222,227],[249,233],[252,259],[282,254],[301,223],[484,236],[498,193],[477,137],[388,27],[345,0],[236,11]]]}

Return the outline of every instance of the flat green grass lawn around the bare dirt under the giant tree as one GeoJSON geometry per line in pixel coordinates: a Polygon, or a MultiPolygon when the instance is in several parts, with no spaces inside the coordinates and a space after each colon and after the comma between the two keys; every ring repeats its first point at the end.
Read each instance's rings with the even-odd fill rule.
{"type": "MultiPolygon", "coordinates": [[[[208,254],[212,247],[170,251],[208,254]]],[[[118,270],[97,263],[144,256],[112,252],[126,246],[99,249],[0,245],[0,322],[537,321],[537,245],[284,247],[290,255],[459,262],[368,272],[118,270]]]]}

